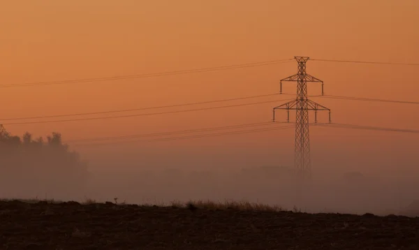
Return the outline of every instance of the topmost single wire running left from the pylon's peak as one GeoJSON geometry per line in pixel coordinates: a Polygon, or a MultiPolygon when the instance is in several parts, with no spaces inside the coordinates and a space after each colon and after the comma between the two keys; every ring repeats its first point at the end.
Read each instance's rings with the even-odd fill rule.
{"type": "Polygon", "coordinates": [[[195,69],[181,70],[181,71],[166,71],[166,72],[160,72],[160,73],[145,73],[145,74],[138,74],[138,75],[119,75],[119,76],[104,77],[104,78],[82,78],[82,79],[75,79],[75,80],[59,80],[59,81],[49,81],[49,82],[27,82],[27,83],[20,83],[20,84],[2,84],[0,85],[0,88],[30,87],[30,86],[69,84],[69,83],[82,83],[82,82],[101,82],[101,81],[110,81],[110,80],[126,80],[126,79],[133,79],[133,78],[152,78],[152,77],[160,77],[160,76],[165,76],[165,75],[204,73],[204,72],[210,72],[210,71],[224,71],[224,70],[230,70],[230,69],[235,69],[235,68],[250,68],[250,67],[258,67],[258,66],[268,66],[268,65],[273,65],[273,64],[284,64],[287,62],[291,62],[291,60],[292,59],[279,59],[279,60],[272,60],[272,61],[259,61],[259,62],[253,62],[253,63],[247,63],[247,64],[231,64],[227,66],[195,68],[195,69]]]}

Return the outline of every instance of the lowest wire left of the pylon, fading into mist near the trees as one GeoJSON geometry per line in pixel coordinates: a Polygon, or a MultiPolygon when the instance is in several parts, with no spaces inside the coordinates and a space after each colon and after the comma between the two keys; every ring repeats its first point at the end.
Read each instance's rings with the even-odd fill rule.
{"type": "Polygon", "coordinates": [[[182,137],[171,137],[171,138],[157,138],[157,139],[150,139],[150,140],[123,140],[123,141],[116,141],[116,142],[98,142],[98,143],[84,143],[73,145],[75,147],[80,146],[92,146],[92,145],[113,145],[118,143],[126,143],[126,142],[156,142],[156,141],[168,141],[168,140],[186,140],[186,139],[195,139],[195,138],[206,138],[206,137],[214,137],[214,136],[222,136],[222,135],[237,135],[242,133],[258,133],[258,132],[265,132],[265,131],[274,131],[274,130],[281,130],[286,128],[293,128],[294,126],[279,126],[277,128],[258,128],[258,129],[251,129],[251,130],[244,130],[244,131],[231,131],[231,132],[222,132],[222,133],[207,133],[203,135],[189,135],[189,136],[182,136],[182,137]]]}

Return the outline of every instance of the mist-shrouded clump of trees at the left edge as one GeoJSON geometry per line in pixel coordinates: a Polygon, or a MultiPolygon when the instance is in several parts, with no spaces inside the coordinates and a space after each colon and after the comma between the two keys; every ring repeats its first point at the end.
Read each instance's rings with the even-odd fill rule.
{"type": "Polygon", "coordinates": [[[22,138],[0,128],[1,196],[47,196],[80,192],[87,182],[87,162],[63,144],[60,133],[22,138]]]}

